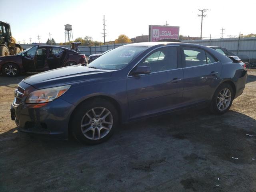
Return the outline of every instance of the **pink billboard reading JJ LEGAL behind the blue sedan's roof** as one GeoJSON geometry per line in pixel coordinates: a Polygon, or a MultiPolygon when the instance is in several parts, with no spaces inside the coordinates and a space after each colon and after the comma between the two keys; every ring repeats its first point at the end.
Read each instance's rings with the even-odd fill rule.
{"type": "Polygon", "coordinates": [[[180,27],[165,25],[149,26],[149,41],[158,41],[163,39],[179,39],[180,27]]]}

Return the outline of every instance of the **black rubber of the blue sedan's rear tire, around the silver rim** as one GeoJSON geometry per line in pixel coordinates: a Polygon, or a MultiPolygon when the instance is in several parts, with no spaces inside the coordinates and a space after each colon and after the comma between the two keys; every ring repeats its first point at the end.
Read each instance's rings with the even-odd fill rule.
{"type": "MultiPolygon", "coordinates": [[[[226,98],[229,99],[228,97],[225,96],[225,99],[226,98]]],[[[218,115],[226,113],[230,109],[233,99],[234,99],[234,90],[233,90],[232,86],[230,86],[230,84],[228,84],[228,83],[221,84],[216,89],[216,91],[212,97],[212,102],[210,105],[210,112],[213,114],[218,114],[218,115]],[[218,98],[218,96],[220,96],[219,95],[220,92],[222,92],[222,94],[223,94],[224,89],[228,89],[230,91],[230,94],[231,94],[230,103],[228,104],[228,106],[226,105],[227,106],[226,108],[224,108],[224,105],[223,105],[223,109],[220,110],[220,108],[218,108],[218,104],[220,103],[220,99],[218,98]]]]}

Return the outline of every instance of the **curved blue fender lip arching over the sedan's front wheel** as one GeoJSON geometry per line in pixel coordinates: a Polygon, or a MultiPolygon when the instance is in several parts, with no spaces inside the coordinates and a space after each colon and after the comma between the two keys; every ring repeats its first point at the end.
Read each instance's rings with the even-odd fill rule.
{"type": "Polygon", "coordinates": [[[116,108],[117,112],[118,112],[118,120],[119,123],[121,122],[122,119],[122,110],[121,110],[121,106],[120,104],[112,97],[110,96],[105,96],[105,95],[98,95],[98,96],[92,96],[89,98],[86,98],[85,100],[81,101],[76,108],[74,108],[74,110],[72,111],[69,121],[68,121],[68,136],[70,137],[72,134],[72,128],[71,128],[71,119],[74,116],[74,113],[76,112],[76,110],[78,109],[78,106],[80,106],[82,103],[84,102],[89,102],[90,100],[94,100],[94,99],[102,99],[102,100],[106,100],[108,102],[110,102],[111,104],[114,105],[114,107],[116,108]]]}

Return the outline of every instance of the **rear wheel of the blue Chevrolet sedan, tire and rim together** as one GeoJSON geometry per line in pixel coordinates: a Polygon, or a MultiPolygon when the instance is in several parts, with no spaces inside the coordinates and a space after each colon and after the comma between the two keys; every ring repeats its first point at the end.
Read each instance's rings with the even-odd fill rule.
{"type": "Polygon", "coordinates": [[[221,84],[215,91],[210,106],[210,112],[213,114],[224,114],[226,113],[233,102],[234,90],[228,83],[221,84]]]}

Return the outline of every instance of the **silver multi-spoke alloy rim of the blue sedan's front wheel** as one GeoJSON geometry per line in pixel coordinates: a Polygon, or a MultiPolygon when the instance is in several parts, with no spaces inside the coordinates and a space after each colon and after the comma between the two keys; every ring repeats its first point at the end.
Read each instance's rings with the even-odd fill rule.
{"type": "Polygon", "coordinates": [[[99,140],[106,136],[113,126],[113,116],[104,107],[95,107],[83,116],[81,130],[84,136],[90,140],[99,140]]]}

